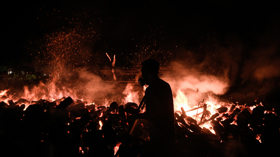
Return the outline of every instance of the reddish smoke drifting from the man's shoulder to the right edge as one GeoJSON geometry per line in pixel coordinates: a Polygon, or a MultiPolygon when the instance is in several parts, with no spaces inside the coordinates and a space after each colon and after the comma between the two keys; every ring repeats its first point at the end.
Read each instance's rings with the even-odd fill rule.
{"type": "Polygon", "coordinates": [[[180,42],[169,49],[170,65],[185,67],[162,76],[174,93],[179,89],[186,95],[200,93],[200,99],[211,93],[243,104],[279,94],[279,22],[250,36],[254,38],[250,42],[236,33],[216,34],[198,39],[197,48],[180,42]]]}

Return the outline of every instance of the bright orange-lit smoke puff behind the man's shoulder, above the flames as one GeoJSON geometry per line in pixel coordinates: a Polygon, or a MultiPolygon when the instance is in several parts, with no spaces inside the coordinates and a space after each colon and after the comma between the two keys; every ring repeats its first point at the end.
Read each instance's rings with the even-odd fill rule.
{"type": "Polygon", "coordinates": [[[225,94],[230,86],[227,72],[215,76],[201,72],[199,66],[185,67],[178,62],[171,65],[182,69],[172,70],[171,74],[163,75],[162,79],[170,84],[174,97],[177,91],[183,91],[191,104],[197,104],[209,95],[225,94]]]}

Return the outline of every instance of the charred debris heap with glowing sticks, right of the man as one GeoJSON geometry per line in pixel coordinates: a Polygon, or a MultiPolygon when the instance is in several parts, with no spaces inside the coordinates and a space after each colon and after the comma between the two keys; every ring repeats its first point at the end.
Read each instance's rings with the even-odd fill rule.
{"type": "Polygon", "coordinates": [[[200,123],[187,116],[188,111],[183,108],[181,115],[175,113],[178,148],[187,148],[189,156],[260,156],[278,147],[274,141],[280,139],[280,118],[274,111],[266,111],[262,105],[251,110],[246,104],[232,104],[229,109],[224,106],[216,109],[206,119],[206,104],[202,107],[200,123]],[[210,123],[215,134],[201,128],[204,123],[210,123]]]}

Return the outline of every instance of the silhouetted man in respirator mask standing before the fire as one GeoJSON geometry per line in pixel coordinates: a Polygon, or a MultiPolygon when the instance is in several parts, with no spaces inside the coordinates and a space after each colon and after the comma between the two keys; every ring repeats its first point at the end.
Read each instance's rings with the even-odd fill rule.
{"type": "Polygon", "coordinates": [[[174,105],[170,85],[158,77],[158,61],[142,63],[142,76],[148,87],[145,91],[146,112],[136,118],[147,119],[153,155],[172,156],[175,146],[174,105]]]}

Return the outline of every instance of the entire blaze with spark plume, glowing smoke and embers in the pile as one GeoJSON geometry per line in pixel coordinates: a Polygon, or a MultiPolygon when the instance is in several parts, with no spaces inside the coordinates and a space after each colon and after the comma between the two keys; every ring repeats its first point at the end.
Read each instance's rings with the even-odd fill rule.
{"type": "MultiPolygon", "coordinates": [[[[141,76],[141,67],[135,66],[130,70],[118,69],[115,67],[116,55],[110,58],[109,54],[106,53],[104,56],[106,55],[109,58],[110,63],[107,67],[96,68],[96,71],[101,73],[97,75],[90,71],[92,67],[88,68],[86,61],[83,61],[84,66],[81,67],[74,60],[75,57],[79,58],[83,56],[83,53],[86,53],[81,49],[82,42],[80,41],[83,39],[84,37],[76,29],[46,35],[46,43],[41,47],[42,51],[39,53],[44,58],[44,60],[39,61],[44,66],[41,70],[49,68],[46,71],[43,70],[46,78],[31,85],[22,85],[23,89],[21,91],[17,90],[15,92],[13,88],[0,91],[1,107],[26,111],[32,104],[46,104],[61,109],[63,108],[61,102],[69,99],[72,101],[73,99],[73,102],[67,104],[69,106],[66,105],[63,108],[65,109],[64,112],[68,112],[67,108],[71,109],[69,109],[69,114],[66,113],[67,118],[63,122],[75,127],[83,125],[84,132],[80,133],[79,136],[83,134],[86,139],[87,133],[96,131],[95,133],[99,135],[99,137],[95,137],[96,139],[107,138],[106,134],[108,135],[108,132],[102,133],[98,130],[102,131],[110,127],[113,128],[111,132],[118,130],[119,132],[116,131],[116,134],[121,136],[122,131],[127,130],[128,122],[126,118],[130,115],[129,111],[125,111],[126,107],[137,108],[135,104],[139,105],[139,100],[143,98],[144,91],[147,88],[147,86],[140,87],[136,83],[141,76]],[[107,79],[101,76],[106,76],[107,79]],[[87,113],[91,120],[84,120],[81,113],[76,112],[76,110],[87,113]],[[119,118],[118,122],[111,124],[108,119],[110,117],[114,119],[115,116],[119,118]],[[110,123],[109,127],[106,124],[107,120],[110,123]],[[90,126],[93,125],[92,123],[96,123],[97,126],[90,126]]],[[[146,50],[142,53],[146,53],[146,50]]],[[[148,57],[151,57],[151,55],[148,57]]],[[[141,58],[141,60],[144,60],[144,58],[141,58]]],[[[9,75],[11,72],[10,70],[9,75]]],[[[229,87],[227,74],[228,71],[225,70],[223,76],[217,77],[199,72],[195,68],[178,65],[178,63],[174,63],[171,67],[160,66],[159,77],[171,86],[176,126],[183,130],[180,133],[184,137],[188,137],[187,134],[189,135],[190,132],[195,132],[195,134],[206,133],[217,135],[217,139],[221,142],[226,141],[225,137],[221,135],[226,134],[222,131],[223,127],[236,127],[238,123],[240,124],[240,121],[237,121],[237,114],[244,112],[240,117],[246,119],[246,114],[251,115],[256,106],[262,106],[262,103],[257,102],[255,106],[247,106],[225,99],[221,100],[219,97],[225,94],[229,87]]],[[[50,110],[52,110],[51,114],[54,115],[60,114],[57,112],[62,112],[56,109],[50,110]]],[[[142,110],[142,112],[144,111],[142,110]]],[[[45,112],[46,109],[44,109],[45,112]]],[[[274,113],[273,111],[262,112],[274,113]]],[[[146,141],[149,140],[149,137],[143,123],[140,129],[143,133],[141,138],[146,141]]],[[[251,130],[254,129],[254,125],[251,127],[249,122],[241,124],[246,125],[251,130]]],[[[72,136],[70,131],[68,131],[68,134],[72,136]]],[[[261,132],[255,134],[255,138],[262,142],[261,132]]],[[[230,133],[226,134],[226,138],[231,136],[230,133]]],[[[117,137],[114,138],[116,138],[116,141],[109,145],[116,154],[121,141],[118,141],[117,137]]],[[[85,141],[85,143],[87,142],[85,141]]],[[[90,149],[80,146],[79,151],[86,153],[90,149]]]]}

